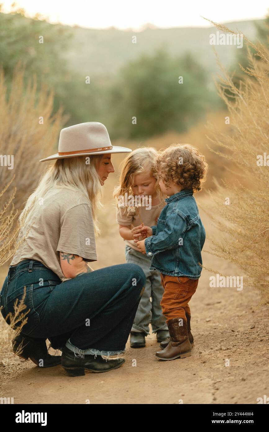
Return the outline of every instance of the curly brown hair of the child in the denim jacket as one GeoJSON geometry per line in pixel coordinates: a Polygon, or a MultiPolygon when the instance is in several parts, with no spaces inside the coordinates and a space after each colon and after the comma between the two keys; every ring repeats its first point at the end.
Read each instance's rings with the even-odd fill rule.
{"type": "Polygon", "coordinates": [[[205,157],[190,144],[172,144],[161,150],[156,158],[156,168],[166,187],[172,181],[182,189],[197,192],[202,189],[201,183],[206,181],[208,165],[205,157]]]}

